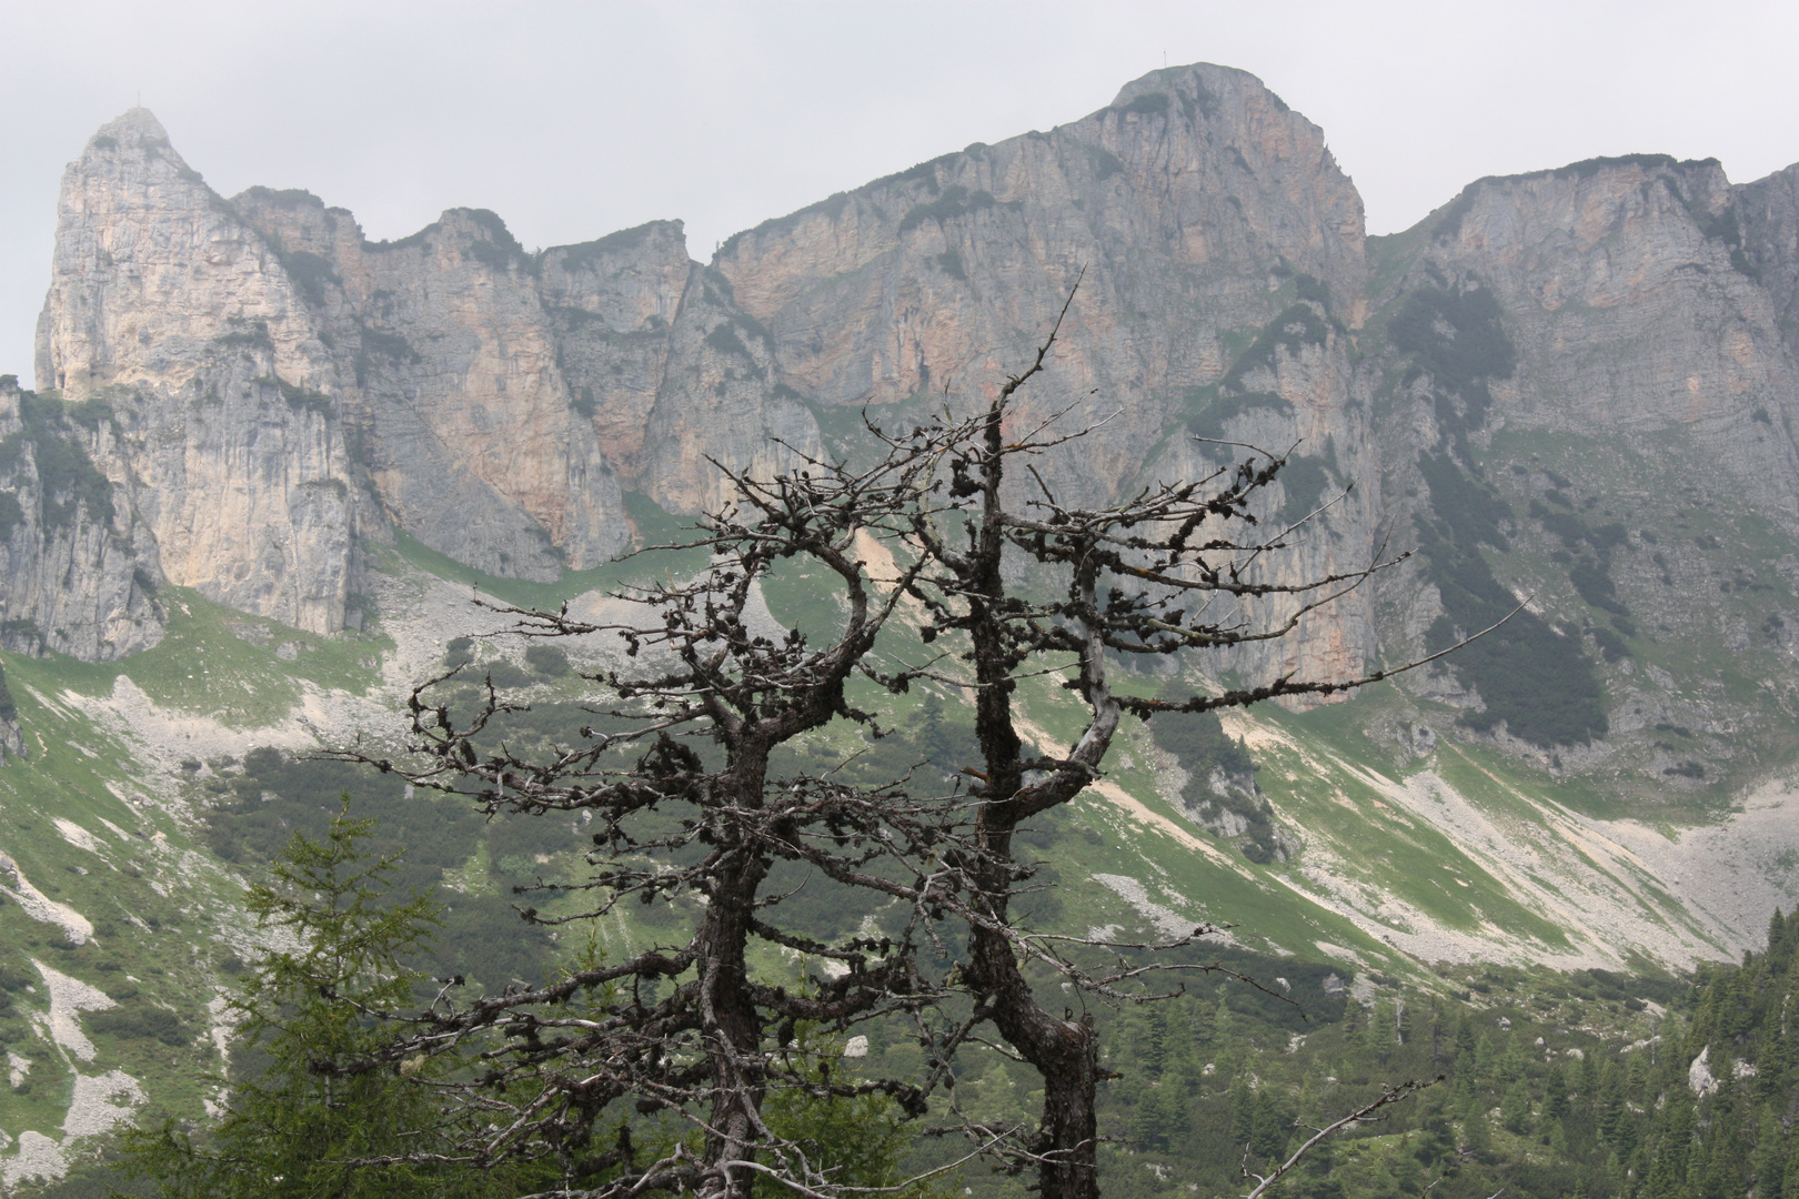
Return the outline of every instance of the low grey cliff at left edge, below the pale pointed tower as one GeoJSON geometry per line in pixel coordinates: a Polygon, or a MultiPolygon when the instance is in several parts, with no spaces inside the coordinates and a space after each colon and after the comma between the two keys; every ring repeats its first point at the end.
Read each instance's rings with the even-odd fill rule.
{"type": "MultiPolygon", "coordinates": [[[[117,467],[104,404],[70,415],[0,376],[0,645],[112,662],[162,640],[157,543],[95,458],[117,467]]],[[[4,690],[4,688],[0,688],[4,690]]]]}

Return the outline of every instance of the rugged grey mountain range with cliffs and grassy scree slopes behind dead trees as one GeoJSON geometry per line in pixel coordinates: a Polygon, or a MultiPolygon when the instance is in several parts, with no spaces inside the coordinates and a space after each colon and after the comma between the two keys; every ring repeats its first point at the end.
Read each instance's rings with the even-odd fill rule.
{"type": "MultiPolygon", "coordinates": [[[[308,192],[218,196],[122,115],[63,180],[36,390],[0,379],[0,1043],[20,1082],[76,1080],[0,1093],[0,1179],[128,1113],[124,1080],[158,1111],[212,1102],[209,1005],[257,949],[243,879],[345,786],[455,895],[446,969],[547,969],[554,942],[495,933],[497,893],[579,868],[567,829],[302,755],[396,742],[446,645],[504,626],[471,586],[599,613],[691,570],[610,559],[718,503],[720,467],[862,453],[864,408],[982,397],[1076,280],[1022,412],[1094,426],[1045,462],[1058,489],[1293,446],[1263,514],[1342,498],[1261,577],[1409,554],[1290,647],[1184,669],[1344,676],[1504,624],[1347,703],[1130,732],[1045,832],[1056,920],[1232,920],[1243,953],[1360,998],[1448,996],[1443,962],[1659,973],[1759,946],[1799,899],[1795,173],[1596,158],[1367,237],[1324,133],[1200,65],[700,264],[678,221],[527,252],[453,209],[371,243],[308,192]]],[[[819,611],[804,579],[765,599],[775,624],[819,611]]],[[[457,645],[531,701],[518,737],[576,735],[577,674],[457,645]]],[[[1045,748],[1060,701],[1031,696],[1045,748]]],[[[966,719],[932,703],[905,728],[966,719]]]]}

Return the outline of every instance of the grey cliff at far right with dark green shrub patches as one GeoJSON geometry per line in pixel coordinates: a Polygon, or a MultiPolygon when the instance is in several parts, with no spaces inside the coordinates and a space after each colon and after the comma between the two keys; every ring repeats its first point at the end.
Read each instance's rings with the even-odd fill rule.
{"type": "Polygon", "coordinates": [[[1383,642],[1529,600],[1419,694],[1675,791],[1786,719],[1795,228],[1790,171],[1731,187],[1637,155],[1481,180],[1382,239],[1360,385],[1423,550],[1382,591],[1383,642]]]}

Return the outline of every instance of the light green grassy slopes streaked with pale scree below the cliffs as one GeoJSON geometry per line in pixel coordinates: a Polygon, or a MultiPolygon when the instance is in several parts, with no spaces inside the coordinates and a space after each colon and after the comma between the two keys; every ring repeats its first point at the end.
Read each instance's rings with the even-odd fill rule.
{"type": "MultiPolygon", "coordinates": [[[[443,568],[428,550],[410,543],[401,543],[396,559],[392,570],[443,568]]],[[[534,604],[559,602],[594,582],[574,579],[550,588],[507,590],[489,579],[466,577],[461,568],[443,568],[443,573],[534,604]]],[[[11,854],[50,899],[77,908],[97,929],[92,944],[68,947],[59,929],[32,922],[18,904],[7,904],[0,908],[0,965],[36,981],[32,960],[38,960],[115,994],[135,987],[126,1005],[173,1008],[187,1034],[182,1044],[90,1034],[97,1059],[70,1066],[32,1032],[36,1017],[29,1012],[43,1010],[43,987],[16,994],[14,1012],[27,1012],[27,1017],[0,1021],[0,1028],[22,1041],[18,1052],[36,1066],[29,1093],[0,1091],[0,1129],[13,1138],[25,1129],[59,1138],[70,1070],[124,1070],[144,1080],[153,1111],[200,1115],[214,1086],[209,1075],[219,1068],[205,1035],[205,1003],[227,981],[221,967],[248,938],[241,917],[234,915],[241,879],[203,848],[191,809],[164,802],[198,798],[196,780],[171,760],[171,753],[146,751],[90,715],[103,706],[76,703],[65,692],[101,699],[126,678],[171,717],[189,714],[239,728],[272,726],[288,717],[308,688],[315,694],[367,692],[380,681],[381,662],[392,649],[378,631],[313,638],[225,611],[192,593],[171,591],[166,599],[173,615],[167,640],[126,663],[0,658],[32,746],[32,757],[0,768],[0,850],[11,854]],[[284,645],[293,649],[282,651],[284,645]],[[139,795],[158,802],[139,804],[133,800],[139,795]],[[58,834],[54,818],[85,829],[99,852],[58,834]]],[[[775,579],[766,599],[783,622],[819,627],[837,617],[829,593],[811,579],[775,579]]],[[[883,642],[883,651],[912,649],[919,649],[916,638],[903,627],[883,642]]],[[[577,688],[579,681],[568,679],[540,687],[536,694],[567,690],[574,696],[577,688]]],[[[1074,735],[1079,712],[1052,681],[1038,679],[1025,694],[1031,719],[1049,742],[1074,735]]],[[[1565,825],[1567,787],[1549,775],[1508,766],[1477,746],[1446,742],[1430,762],[1396,762],[1389,748],[1364,732],[1385,703],[1391,697],[1369,694],[1304,715],[1268,708],[1249,719],[1245,728],[1261,762],[1259,786],[1279,818],[1306,843],[1295,861],[1268,866],[1245,861],[1169,805],[1157,791],[1148,735],[1128,730],[1108,762],[1110,787],[1087,793],[1072,805],[1070,818],[1042,839],[1042,857],[1049,863],[1045,877],[1060,884],[1056,902],[1045,908],[1045,922],[1067,931],[1110,926],[1133,935],[1159,935],[1159,919],[1231,922],[1234,938],[1249,949],[1331,962],[1346,976],[1360,962],[1362,973],[1367,967],[1398,973],[1427,987],[1441,983],[1423,969],[1423,960],[1389,944],[1371,913],[1401,933],[1439,929],[1473,938],[1470,944],[1488,946],[1495,956],[1508,947],[1513,956],[1526,958],[1578,949],[1538,899],[1520,895],[1515,881],[1493,870],[1464,841],[1392,802],[1392,787],[1403,784],[1407,773],[1428,768],[1468,805],[1508,827],[1529,827],[1547,843],[1565,825]],[[1313,877],[1320,863],[1328,863],[1328,874],[1342,884],[1335,899],[1313,877]],[[1097,875],[1108,875],[1110,883],[1097,875]],[[1137,881],[1142,892],[1121,884],[1123,879],[1137,881]]],[[[822,730],[815,739],[815,748],[826,755],[847,755],[862,744],[860,732],[847,726],[822,730]]],[[[541,863],[545,877],[579,870],[579,845],[570,841],[568,852],[541,863]]],[[[498,886],[502,879],[493,866],[482,845],[455,881],[498,886]]],[[[558,902],[572,901],[541,906],[554,910],[558,902]]],[[[1655,902],[1660,904],[1657,919],[1673,924],[1686,919],[1678,902],[1655,902]]],[[[673,924],[680,919],[676,913],[673,924]]],[[[644,937],[667,938],[673,924],[646,929],[610,920],[595,937],[603,946],[624,949],[644,937]]],[[[793,974],[802,964],[768,955],[761,967],[793,974]]],[[[92,1023],[92,1017],[83,1019],[92,1023]]]]}

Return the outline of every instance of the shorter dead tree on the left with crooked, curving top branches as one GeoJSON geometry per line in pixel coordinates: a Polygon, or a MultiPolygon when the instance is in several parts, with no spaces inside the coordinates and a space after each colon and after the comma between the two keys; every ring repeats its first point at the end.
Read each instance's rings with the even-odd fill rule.
{"type": "MultiPolygon", "coordinates": [[[[736,478],[738,502],[689,541],[711,552],[711,564],[631,593],[630,617],[592,624],[567,608],[502,608],[524,636],[617,638],[621,665],[592,676],[612,697],[604,730],[583,730],[583,744],[549,757],[495,744],[493,726],[516,708],[489,681],[475,712],[457,714],[434,699],[441,676],[412,694],[408,755],[340,755],[470,796],[488,813],[590,813],[595,870],[563,886],[594,902],[561,917],[527,908],[527,919],[567,924],[628,901],[687,895],[703,904],[684,944],[470,1003],[444,987],[423,1014],[385,1014],[410,1030],[385,1053],[390,1064],[419,1053],[464,1061],[455,1080],[435,1086],[471,1122],[452,1138],[455,1149],[434,1152],[473,1165],[554,1159],[563,1177],[554,1194],[568,1195],[739,1197],[757,1176],[826,1195],[842,1190],[840,1179],[765,1124],[770,1088],[844,1098],[882,1091],[925,1111],[946,1061],[923,1082],[831,1080],[828,1068],[793,1061],[795,1025],[846,1030],[903,1014],[928,1026],[946,992],[919,971],[916,947],[921,928],[944,915],[934,904],[943,872],[932,863],[953,838],[953,816],[946,823],[939,798],[912,798],[905,778],[858,787],[774,766],[777,750],[833,721],[880,733],[878,714],[851,703],[851,683],[871,672],[869,651],[925,563],[874,581],[855,546],[858,536],[891,539],[910,525],[925,471],[925,455],[901,451],[867,471],[820,462],[770,482],[736,478]],[[842,626],[820,642],[756,622],[757,584],[795,559],[829,572],[844,602],[842,626]],[[901,897],[908,917],[889,935],[817,944],[783,928],[783,895],[768,892],[783,861],[901,897]],[[835,969],[792,989],[757,978],[756,942],[835,969]],[[660,1149],[633,1145],[631,1124],[646,1120],[664,1132],[696,1129],[700,1147],[667,1134],[660,1149]]],[[[878,681],[905,687],[903,678],[878,681]]]]}

